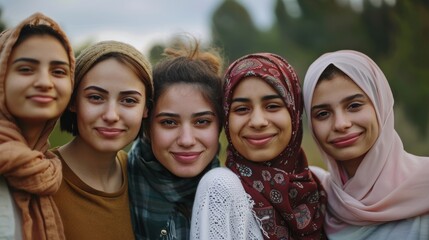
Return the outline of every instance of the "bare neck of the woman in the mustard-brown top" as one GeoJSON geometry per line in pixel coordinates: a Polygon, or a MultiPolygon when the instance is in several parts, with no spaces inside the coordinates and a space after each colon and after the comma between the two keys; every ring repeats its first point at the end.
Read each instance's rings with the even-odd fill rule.
{"type": "Polygon", "coordinates": [[[100,152],[88,146],[79,136],[59,148],[70,169],[86,184],[103,192],[118,191],[123,182],[117,152],[100,152]]]}

